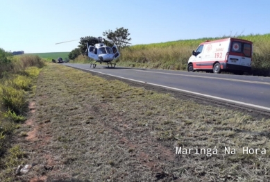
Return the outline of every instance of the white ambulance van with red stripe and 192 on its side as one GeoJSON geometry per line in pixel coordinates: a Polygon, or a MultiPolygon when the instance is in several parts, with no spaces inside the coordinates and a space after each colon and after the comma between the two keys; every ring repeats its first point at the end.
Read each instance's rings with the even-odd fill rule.
{"type": "Polygon", "coordinates": [[[251,71],[252,42],[237,38],[205,41],[199,45],[187,63],[187,71],[234,72],[251,71]]]}

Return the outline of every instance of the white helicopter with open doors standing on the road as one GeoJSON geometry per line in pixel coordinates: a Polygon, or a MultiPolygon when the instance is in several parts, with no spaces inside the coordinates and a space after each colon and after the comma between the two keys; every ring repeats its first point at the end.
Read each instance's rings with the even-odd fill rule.
{"type": "MultiPolygon", "coordinates": [[[[112,63],[112,60],[115,60],[116,58],[119,58],[120,53],[117,49],[117,46],[114,44],[112,40],[108,40],[102,37],[98,37],[97,40],[99,40],[99,43],[92,45],[88,45],[87,42],[87,49],[85,50],[85,53],[87,53],[87,56],[91,58],[90,67],[96,68],[96,63],[107,63],[108,67],[115,68],[116,63],[112,63]],[[105,44],[105,42],[109,42],[110,44],[113,44],[112,47],[109,47],[105,44]]],[[[66,42],[71,42],[76,40],[70,40],[66,42]]],[[[119,40],[118,40],[119,41],[119,40]]],[[[121,41],[124,42],[124,41],[121,41]]],[[[61,44],[65,42],[59,42],[56,44],[61,44]]],[[[130,44],[128,42],[124,42],[126,44],[130,44]]]]}

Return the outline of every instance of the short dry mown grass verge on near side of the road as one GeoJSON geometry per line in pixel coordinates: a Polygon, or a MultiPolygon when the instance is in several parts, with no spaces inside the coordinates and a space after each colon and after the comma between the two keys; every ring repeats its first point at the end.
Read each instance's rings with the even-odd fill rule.
{"type": "Polygon", "coordinates": [[[56,64],[44,68],[37,83],[34,122],[31,129],[18,129],[17,143],[27,163],[53,169],[37,165],[14,181],[270,180],[270,119],[56,64]],[[176,154],[176,147],[199,153],[217,149],[217,154],[176,154]],[[224,154],[225,147],[236,153],[224,154]],[[266,154],[242,154],[242,147],[266,149],[266,154]]]}

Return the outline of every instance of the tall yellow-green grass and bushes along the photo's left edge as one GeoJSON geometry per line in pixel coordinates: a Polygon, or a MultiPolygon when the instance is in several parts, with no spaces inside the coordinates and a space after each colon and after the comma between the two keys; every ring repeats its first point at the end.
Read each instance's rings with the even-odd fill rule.
{"type": "MultiPolygon", "coordinates": [[[[44,61],[38,56],[12,56],[0,49],[0,181],[12,181],[26,155],[15,141],[15,131],[26,121],[28,97],[44,61]]],[[[32,95],[33,97],[33,95],[32,95]]]]}

